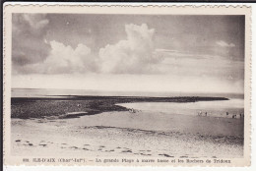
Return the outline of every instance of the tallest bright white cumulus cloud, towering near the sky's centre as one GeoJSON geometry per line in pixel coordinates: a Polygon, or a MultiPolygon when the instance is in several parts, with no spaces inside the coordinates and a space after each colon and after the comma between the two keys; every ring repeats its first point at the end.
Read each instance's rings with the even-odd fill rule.
{"type": "Polygon", "coordinates": [[[146,24],[125,26],[127,38],[99,49],[101,71],[113,74],[156,73],[162,58],[155,53],[153,28],[146,24]]]}

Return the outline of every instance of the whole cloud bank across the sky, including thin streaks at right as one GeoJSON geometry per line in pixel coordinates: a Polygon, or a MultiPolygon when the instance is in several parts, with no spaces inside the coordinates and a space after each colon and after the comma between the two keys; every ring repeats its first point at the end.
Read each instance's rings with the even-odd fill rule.
{"type": "MultiPolygon", "coordinates": [[[[209,71],[207,74],[219,76],[220,72],[226,71],[229,65],[226,65],[225,59],[219,58],[218,55],[207,56],[182,53],[175,48],[156,48],[155,29],[149,28],[146,24],[125,25],[125,37],[120,38],[116,43],[99,48],[98,54],[93,53],[94,49],[83,43],[71,46],[56,40],[47,41],[46,35],[50,24],[50,18],[46,15],[13,16],[14,74],[184,75],[186,71],[190,71],[189,73],[193,75],[203,75],[205,71],[209,71]],[[213,60],[222,62],[219,68],[211,67],[213,60]]],[[[226,43],[224,40],[213,43],[218,45],[215,48],[219,53],[222,52],[224,55],[233,53],[229,48],[224,47],[234,47],[235,44],[226,43]]],[[[233,55],[228,56],[231,58],[233,55]]]]}

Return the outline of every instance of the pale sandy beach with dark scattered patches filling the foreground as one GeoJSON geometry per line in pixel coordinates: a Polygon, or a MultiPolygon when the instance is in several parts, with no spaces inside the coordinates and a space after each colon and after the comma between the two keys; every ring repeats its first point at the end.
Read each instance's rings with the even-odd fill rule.
{"type": "Polygon", "coordinates": [[[12,118],[13,155],[243,156],[243,120],[140,111],[12,118]]]}

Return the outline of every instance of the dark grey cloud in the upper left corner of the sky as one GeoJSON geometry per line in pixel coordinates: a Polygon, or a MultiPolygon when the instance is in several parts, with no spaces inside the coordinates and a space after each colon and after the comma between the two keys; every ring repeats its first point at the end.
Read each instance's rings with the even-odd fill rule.
{"type": "Polygon", "coordinates": [[[12,61],[14,65],[35,64],[46,59],[50,45],[45,43],[49,21],[42,14],[13,14],[12,61]]]}

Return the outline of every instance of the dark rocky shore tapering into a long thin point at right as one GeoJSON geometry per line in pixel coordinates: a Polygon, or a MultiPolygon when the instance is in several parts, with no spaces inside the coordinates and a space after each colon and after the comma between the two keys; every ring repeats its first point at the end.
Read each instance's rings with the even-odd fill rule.
{"type": "Polygon", "coordinates": [[[225,97],[145,97],[145,96],[80,96],[56,95],[51,97],[12,97],[11,117],[28,119],[49,116],[75,118],[83,115],[95,115],[102,112],[128,111],[129,109],[115,105],[131,102],[196,102],[228,100],[225,97]],[[77,114],[65,115],[77,112],[77,114]]]}

